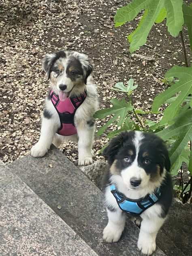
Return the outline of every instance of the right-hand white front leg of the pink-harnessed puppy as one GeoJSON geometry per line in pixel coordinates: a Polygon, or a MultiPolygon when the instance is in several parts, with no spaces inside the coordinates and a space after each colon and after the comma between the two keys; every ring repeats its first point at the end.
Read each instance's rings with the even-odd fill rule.
{"type": "Polygon", "coordinates": [[[92,164],[94,126],[89,126],[88,124],[78,124],[76,128],[78,135],[78,165],[92,164]]]}

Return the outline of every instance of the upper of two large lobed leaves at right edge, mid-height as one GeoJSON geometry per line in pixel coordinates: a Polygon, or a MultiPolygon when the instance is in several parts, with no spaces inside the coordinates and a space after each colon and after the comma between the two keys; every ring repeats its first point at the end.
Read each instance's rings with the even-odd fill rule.
{"type": "Polygon", "coordinates": [[[163,122],[166,122],[165,119],[167,118],[173,119],[182,102],[190,93],[192,93],[192,67],[185,68],[174,66],[166,73],[166,77],[170,76],[178,77],[179,81],[156,96],[152,105],[152,112],[157,111],[166,100],[179,93],[177,100],[174,100],[164,111],[163,122]]]}

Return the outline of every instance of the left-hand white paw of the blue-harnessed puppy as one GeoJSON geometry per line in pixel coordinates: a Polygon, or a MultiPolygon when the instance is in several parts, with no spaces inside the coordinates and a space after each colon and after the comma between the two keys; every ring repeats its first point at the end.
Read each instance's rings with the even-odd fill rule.
{"type": "Polygon", "coordinates": [[[118,228],[118,226],[112,226],[107,224],[103,230],[103,240],[107,243],[115,243],[119,241],[119,238],[122,235],[123,230],[118,228]]]}

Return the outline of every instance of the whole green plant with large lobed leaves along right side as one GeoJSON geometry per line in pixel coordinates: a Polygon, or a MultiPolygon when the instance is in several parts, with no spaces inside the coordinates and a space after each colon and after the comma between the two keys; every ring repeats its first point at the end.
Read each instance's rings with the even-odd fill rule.
{"type": "Polygon", "coordinates": [[[162,120],[158,123],[146,119],[145,111],[134,109],[132,106],[130,95],[137,88],[137,85],[133,85],[132,79],[128,81],[127,86],[117,83],[113,90],[124,92],[128,100],[111,99],[112,108],[99,110],[95,114],[96,118],[113,115],[107,124],[100,128],[98,135],[101,135],[113,122],[117,122],[118,129],[109,132],[108,138],[114,137],[123,130],[135,129],[153,131],[158,134],[169,145],[172,174],[175,175],[178,172],[182,162],[188,165],[191,178],[184,188],[182,186],[181,195],[183,196],[184,191],[190,185],[187,196],[187,200],[190,200],[192,194],[192,67],[188,67],[182,28],[183,25],[188,28],[192,50],[192,4],[187,6],[183,0],[132,0],[127,6],[117,10],[114,17],[115,27],[133,20],[141,11],[143,15],[137,28],[128,35],[130,52],[146,43],[154,23],[160,23],[166,18],[169,33],[172,36],[180,35],[181,37],[186,67],[174,66],[166,72],[164,83],[169,84],[170,87],[155,97],[151,108],[151,113],[157,113],[164,103],[168,104],[163,112],[162,120]],[[130,113],[135,119],[130,120],[130,113]]]}

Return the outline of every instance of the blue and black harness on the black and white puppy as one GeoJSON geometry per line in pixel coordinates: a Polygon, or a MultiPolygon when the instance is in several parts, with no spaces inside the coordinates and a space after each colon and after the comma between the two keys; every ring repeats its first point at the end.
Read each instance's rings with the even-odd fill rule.
{"type": "Polygon", "coordinates": [[[154,193],[148,194],[144,198],[134,200],[127,198],[124,194],[119,192],[115,185],[111,185],[110,189],[117,201],[117,204],[119,205],[119,208],[122,209],[122,211],[130,213],[134,216],[139,216],[141,213],[143,213],[143,211],[154,205],[159,200],[161,195],[160,188],[156,188],[154,193]]]}

